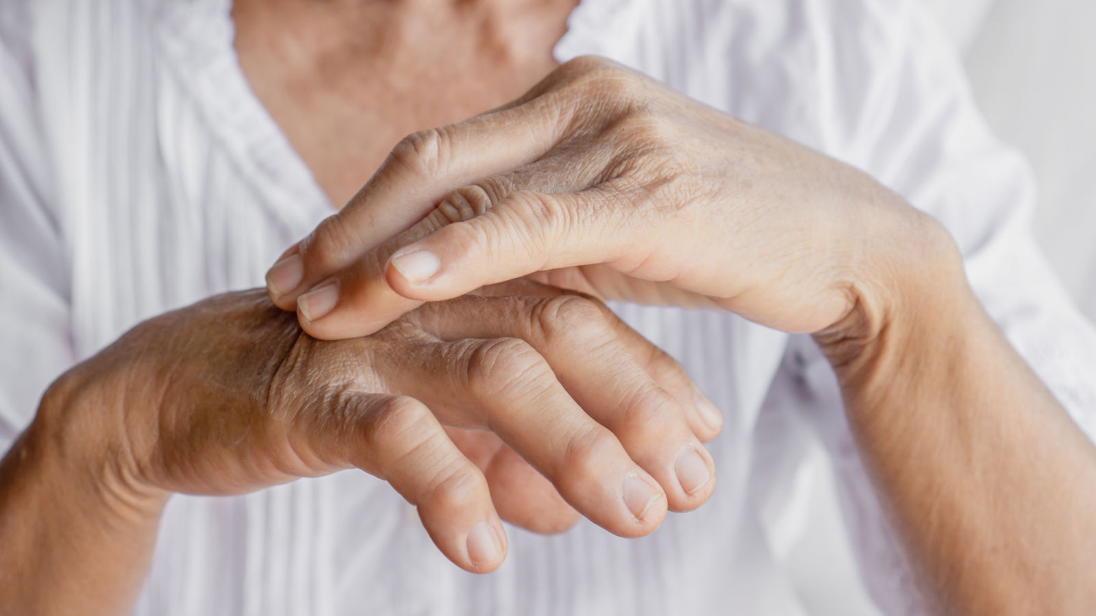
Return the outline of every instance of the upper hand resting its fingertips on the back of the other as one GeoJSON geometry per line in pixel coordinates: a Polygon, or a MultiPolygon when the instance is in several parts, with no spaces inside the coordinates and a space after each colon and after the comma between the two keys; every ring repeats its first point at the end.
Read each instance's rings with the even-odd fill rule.
{"type": "Polygon", "coordinates": [[[817,332],[870,299],[861,274],[886,272],[924,218],[833,159],[581,58],[404,139],[267,282],[324,339],[524,275],[817,332]]]}

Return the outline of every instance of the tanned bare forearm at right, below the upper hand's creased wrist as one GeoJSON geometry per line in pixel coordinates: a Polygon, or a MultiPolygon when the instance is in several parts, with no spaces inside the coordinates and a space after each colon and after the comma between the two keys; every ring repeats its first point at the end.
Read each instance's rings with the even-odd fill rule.
{"type": "Polygon", "coordinates": [[[947,252],[819,336],[860,454],[937,611],[1091,614],[1096,448],[947,252]]]}

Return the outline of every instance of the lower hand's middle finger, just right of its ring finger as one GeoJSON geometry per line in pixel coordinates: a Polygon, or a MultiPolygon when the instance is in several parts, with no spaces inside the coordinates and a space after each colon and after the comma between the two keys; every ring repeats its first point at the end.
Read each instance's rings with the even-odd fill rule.
{"type": "Polygon", "coordinates": [[[670,509],[690,511],[711,495],[715,464],[682,404],[636,362],[597,303],[578,295],[465,296],[424,306],[415,318],[443,339],[525,340],[574,401],[659,481],[670,509]]]}

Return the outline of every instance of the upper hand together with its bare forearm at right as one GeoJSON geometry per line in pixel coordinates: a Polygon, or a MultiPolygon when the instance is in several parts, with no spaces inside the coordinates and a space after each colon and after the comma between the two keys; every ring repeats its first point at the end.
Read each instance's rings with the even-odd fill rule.
{"type": "Polygon", "coordinates": [[[865,173],[579,58],[410,135],[267,283],[338,339],[518,276],[813,334],[935,608],[1096,611],[1096,447],[979,305],[948,232],[865,173]]]}

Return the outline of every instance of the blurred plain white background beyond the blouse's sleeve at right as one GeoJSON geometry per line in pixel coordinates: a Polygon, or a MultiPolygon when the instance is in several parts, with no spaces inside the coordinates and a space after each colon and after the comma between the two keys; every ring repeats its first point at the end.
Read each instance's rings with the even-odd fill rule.
{"type": "MultiPolygon", "coordinates": [[[[1096,2],[923,1],[962,56],[990,125],[1035,168],[1036,236],[1096,320],[1096,2]]],[[[846,547],[821,450],[800,479],[808,489],[795,517],[806,526],[785,561],[804,604],[815,616],[878,616],[846,547]]]]}

